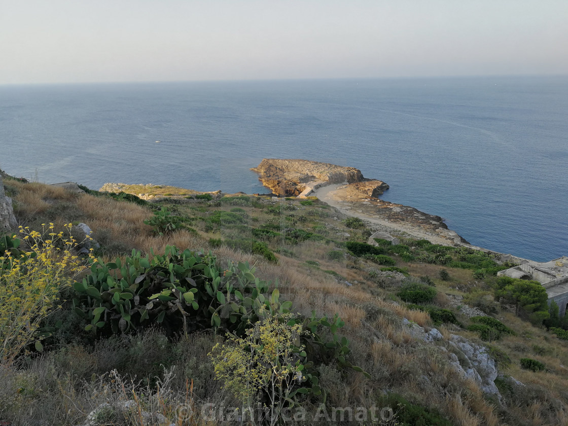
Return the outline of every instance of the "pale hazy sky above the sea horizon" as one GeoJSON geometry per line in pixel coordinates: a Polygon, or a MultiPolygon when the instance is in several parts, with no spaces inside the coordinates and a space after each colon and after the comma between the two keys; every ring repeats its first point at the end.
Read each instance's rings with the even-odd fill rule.
{"type": "Polygon", "coordinates": [[[568,74],[568,0],[0,0],[0,84],[568,74]]]}

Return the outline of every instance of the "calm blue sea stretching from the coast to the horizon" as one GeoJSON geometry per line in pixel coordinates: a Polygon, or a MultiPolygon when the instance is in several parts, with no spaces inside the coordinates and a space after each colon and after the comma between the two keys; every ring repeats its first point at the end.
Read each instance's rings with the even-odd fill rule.
{"type": "Polygon", "coordinates": [[[10,174],[93,189],[265,193],[263,157],[354,166],[472,244],[568,254],[568,77],[0,86],[0,144],[10,174]]]}

